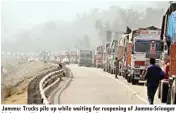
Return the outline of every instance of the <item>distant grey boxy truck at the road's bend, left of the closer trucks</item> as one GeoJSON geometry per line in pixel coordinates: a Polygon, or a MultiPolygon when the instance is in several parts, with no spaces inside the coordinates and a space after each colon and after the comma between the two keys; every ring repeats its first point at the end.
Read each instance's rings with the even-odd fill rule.
{"type": "Polygon", "coordinates": [[[92,65],[92,50],[79,50],[79,66],[91,67],[92,65]]]}

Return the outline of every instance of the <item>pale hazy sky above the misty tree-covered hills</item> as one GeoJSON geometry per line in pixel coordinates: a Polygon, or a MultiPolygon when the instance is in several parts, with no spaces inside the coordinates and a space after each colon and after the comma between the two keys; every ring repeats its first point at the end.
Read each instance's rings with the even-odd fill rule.
{"type": "MultiPolygon", "coordinates": [[[[25,1],[25,0],[24,0],[25,1]]],[[[71,0],[70,0],[71,1],[71,0]]],[[[15,1],[2,4],[2,29],[4,34],[14,34],[19,29],[31,28],[33,25],[50,20],[71,21],[77,14],[88,12],[93,8],[106,10],[111,5],[124,8],[142,8],[152,6],[151,2],[68,2],[68,1],[15,1]],[[136,7],[137,6],[137,7],[136,7]]]]}

